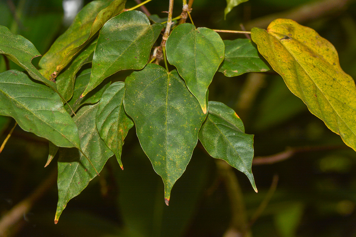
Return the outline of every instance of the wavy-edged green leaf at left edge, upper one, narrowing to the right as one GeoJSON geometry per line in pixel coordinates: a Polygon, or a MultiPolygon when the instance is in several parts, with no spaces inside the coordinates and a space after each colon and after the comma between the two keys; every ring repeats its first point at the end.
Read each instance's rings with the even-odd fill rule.
{"type": "Polygon", "coordinates": [[[33,79],[42,81],[57,92],[56,83],[43,77],[31,63],[33,58],[41,56],[35,46],[26,38],[18,34],[12,34],[5,26],[0,26],[0,54],[5,54],[17,65],[25,69],[33,79]]]}

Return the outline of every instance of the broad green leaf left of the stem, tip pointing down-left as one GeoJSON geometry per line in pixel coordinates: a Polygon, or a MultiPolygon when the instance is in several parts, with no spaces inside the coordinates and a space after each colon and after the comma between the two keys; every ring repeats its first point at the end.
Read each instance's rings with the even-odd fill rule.
{"type": "Polygon", "coordinates": [[[151,26],[140,11],[122,12],[108,21],[100,31],[90,83],[83,96],[117,71],[142,69],[162,28],[159,23],[151,26]]]}

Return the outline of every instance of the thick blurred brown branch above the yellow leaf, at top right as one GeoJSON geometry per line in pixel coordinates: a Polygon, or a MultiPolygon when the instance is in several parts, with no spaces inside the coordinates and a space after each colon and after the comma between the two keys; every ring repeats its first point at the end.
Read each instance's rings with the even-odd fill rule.
{"type": "Polygon", "coordinates": [[[324,15],[342,11],[345,9],[346,4],[354,0],[320,0],[313,1],[307,4],[293,8],[292,10],[278,12],[275,14],[256,18],[245,24],[247,30],[253,27],[267,28],[269,23],[277,18],[288,18],[298,23],[303,23],[324,15]]]}

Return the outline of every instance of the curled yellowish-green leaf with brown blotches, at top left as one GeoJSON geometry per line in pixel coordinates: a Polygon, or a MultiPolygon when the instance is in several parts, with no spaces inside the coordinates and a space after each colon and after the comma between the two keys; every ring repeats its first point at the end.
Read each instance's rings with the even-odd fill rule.
{"type": "Polygon", "coordinates": [[[126,0],[96,0],[89,2],[75,17],[72,25],[59,36],[38,64],[47,79],[53,79],[64,69],[99,29],[111,17],[125,8],[126,0]]]}

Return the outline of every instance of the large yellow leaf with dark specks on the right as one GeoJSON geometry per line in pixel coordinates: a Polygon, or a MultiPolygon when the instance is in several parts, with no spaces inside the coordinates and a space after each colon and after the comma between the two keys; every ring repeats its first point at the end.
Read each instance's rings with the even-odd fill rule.
{"type": "Polygon", "coordinates": [[[287,19],[267,31],[253,28],[260,53],[316,117],[356,150],[356,87],[340,67],[334,46],[313,29],[287,19]]]}

